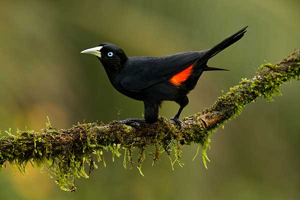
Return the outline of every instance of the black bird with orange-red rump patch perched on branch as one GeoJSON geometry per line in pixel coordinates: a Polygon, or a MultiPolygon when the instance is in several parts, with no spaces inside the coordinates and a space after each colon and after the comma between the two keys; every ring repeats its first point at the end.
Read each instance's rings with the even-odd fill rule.
{"type": "Polygon", "coordinates": [[[118,122],[127,125],[154,123],[165,100],[179,104],[170,118],[181,127],[179,116],[188,104],[187,94],[195,87],[203,71],[227,70],[210,67],[207,61],[242,38],[246,28],[238,30],[212,48],[201,51],[180,52],[171,55],[127,56],[117,45],[103,42],[81,53],[95,55],[102,63],[112,86],[120,93],[144,103],[144,118],[126,118],[118,122]]]}

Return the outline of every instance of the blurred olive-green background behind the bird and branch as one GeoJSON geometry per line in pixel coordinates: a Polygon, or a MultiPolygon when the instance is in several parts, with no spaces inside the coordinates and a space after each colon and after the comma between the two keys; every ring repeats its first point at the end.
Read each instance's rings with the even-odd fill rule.
{"type": "MultiPolygon", "coordinates": [[[[260,65],[300,48],[299,0],[1,0],[0,129],[68,128],[77,121],[104,123],[140,117],[142,102],[111,86],[96,57],[79,52],[107,41],[128,56],[162,56],[211,47],[249,25],[245,36],[212,58],[189,94],[182,116],[214,102],[221,90],[260,65]]],[[[205,169],[196,145],[184,146],[184,167],[171,170],[162,156],[137,169],[99,164],[77,192],[59,190],[54,179],[28,167],[23,177],[9,165],[0,172],[0,199],[300,199],[300,82],[281,86],[274,102],[258,99],[213,133],[205,169]]],[[[160,115],[178,109],[165,102],[160,115]]]]}

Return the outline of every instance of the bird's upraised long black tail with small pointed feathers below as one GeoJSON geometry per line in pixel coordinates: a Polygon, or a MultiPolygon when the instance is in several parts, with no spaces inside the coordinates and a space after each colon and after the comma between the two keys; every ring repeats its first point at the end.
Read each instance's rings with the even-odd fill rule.
{"type": "MultiPolygon", "coordinates": [[[[220,43],[218,43],[215,46],[213,46],[212,48],[208,49],[207,52],[205,52],[205,54],[200,58],[201,63],[203,64],[203,63],[207,62],[207,60],[209,58],[213,57],[214,55],[216,55],[221,50],[227,48],[231,44],[238,41],[244,35],[244,33],[246,32],[247,27],[248,26],[238,30],[237,32],[235,32],[231,36],[227,37],[226,39],[224,39],[220,43]]],[[[227,69],[221,69],[221,68],[215,68],[215,67],[209,67],[209,66],[204,67],[204,71],[214,71],[214,70],[227,70],[227,69]]]]}

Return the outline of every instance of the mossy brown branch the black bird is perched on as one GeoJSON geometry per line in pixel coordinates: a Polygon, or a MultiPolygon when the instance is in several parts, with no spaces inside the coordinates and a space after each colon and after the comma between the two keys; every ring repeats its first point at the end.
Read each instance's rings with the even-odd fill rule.
{"type": "Polygon", "coordinates": [[[110,150],[114,156],[120,156],[124,150],[124,167],[133,165],[132,151],[138,149],[137,168],[141,172],[141,164],[145,158],[146,147],[154,147],[153,163],[159,155],[165,152],[171,159],[173,151],[179,165],[181,146],[198,143],[202,148],[202,158],[208,160],[205,150],[209,145],[209,136],[213,130],[241,112],[243,106],[254,101],[259,96],[271,100],[275,94],[280,94],[279,86],[291,79],[300,77],[300,50],[276,64],[266,63],[259,67],[257,74],[251,79],[242,79],[238,85],[218,97],[213,105],[200,112],[185,117],[181,129],[163,117],[154,124],[140,124],[131,127],[116,122],[109,124],[84,123],[73,125],[69,129],[55,129],[50,123],[40,132],[33,130],[17,130],[12,135],[0,138],[0,169],[7,162],[16,165],[21,172],[30,162],[38,168],[45,168],[54,176],[61,189],[74,191],[74,178],[88,177],[88,172],[97,167],[94,159],[104,161],[104,152],[110,150]]]}

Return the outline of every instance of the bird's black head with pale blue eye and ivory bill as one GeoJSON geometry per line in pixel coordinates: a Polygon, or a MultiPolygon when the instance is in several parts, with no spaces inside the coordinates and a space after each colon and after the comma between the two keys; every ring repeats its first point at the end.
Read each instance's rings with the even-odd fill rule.
{"type": "Polygon", "coordinates": [[[81,51],[81,53],[97,56],[106,72],[117,72],[128,59],[120,47],[107,42],[101,43],[93,48],[85,49],[81,51]]]}

